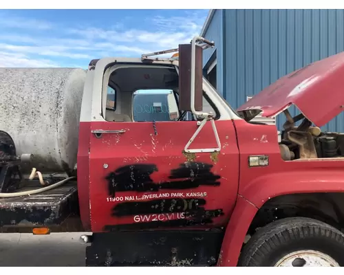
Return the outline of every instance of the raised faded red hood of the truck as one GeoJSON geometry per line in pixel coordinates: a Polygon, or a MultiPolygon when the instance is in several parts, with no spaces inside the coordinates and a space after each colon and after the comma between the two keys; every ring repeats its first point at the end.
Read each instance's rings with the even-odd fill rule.
{"type": "Polygon", "coordinates": [[[344,107],[344,52],[316,61],[266,87],[237,111],[278,115],[294,104],[316,126],[327,124],[344,107]]]}

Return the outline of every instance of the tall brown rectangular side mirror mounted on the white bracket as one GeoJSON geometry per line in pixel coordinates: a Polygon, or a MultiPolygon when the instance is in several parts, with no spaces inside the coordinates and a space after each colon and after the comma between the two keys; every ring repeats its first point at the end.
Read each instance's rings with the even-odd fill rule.
{"type": "Polygon", "coordinates": [[[193,111],[191,109],[191,72],[195,73],[195,111],[203,109],[203,48],[195,45],[195,66],[191,64],[192,44],[179,45],[179,102],[183,111],[193,111]]]}

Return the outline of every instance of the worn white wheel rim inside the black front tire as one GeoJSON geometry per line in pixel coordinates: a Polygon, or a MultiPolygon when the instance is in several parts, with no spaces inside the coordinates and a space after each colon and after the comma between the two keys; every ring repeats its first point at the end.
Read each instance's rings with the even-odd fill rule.
{"type": "Polygon", "coordinates": [[[340,267],[340,265],[325,253],[299,250],[284,256],[275,267],[340,267]]]}

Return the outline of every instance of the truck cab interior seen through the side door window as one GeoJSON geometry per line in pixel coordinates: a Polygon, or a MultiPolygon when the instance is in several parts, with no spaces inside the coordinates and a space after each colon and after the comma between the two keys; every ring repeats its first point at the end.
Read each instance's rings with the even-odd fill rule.
{"type": "MultiPolygon", "coordinates": [[[[104,84],[103,104],[106,108],[103,108],[105,109],[103,117],[108,122],[135,121],[133,99],[138,92],[151,96],[156,94],[157,97],[161,94],[173,93],[178,104],[178,73],[173,65],[116,65],[104,84]]],[[[152,106],[149,106],[149,109],[155,110],[153,103],[150,102],[152,106]]],[[[203,108],[214,112],[211,102],[205,97],[203,97],[203,108]]],[[[179,113],[185,115],[183,110],[179,110],[179,113]]]]}

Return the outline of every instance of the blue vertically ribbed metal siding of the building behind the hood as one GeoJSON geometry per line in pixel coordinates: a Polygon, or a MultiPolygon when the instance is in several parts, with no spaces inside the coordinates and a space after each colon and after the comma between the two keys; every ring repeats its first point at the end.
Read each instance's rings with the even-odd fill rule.
{"type": "MultiPolygon", "coordinates": [[[[216,10],[206,38],[217,45],[220,93],[237,108],[281,76],[343,52],[344,10],[216,10]]],[[[343,113],[323,129],[344,132],[343,113]]]]}

